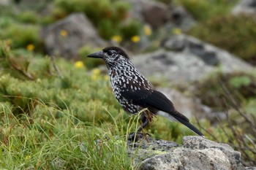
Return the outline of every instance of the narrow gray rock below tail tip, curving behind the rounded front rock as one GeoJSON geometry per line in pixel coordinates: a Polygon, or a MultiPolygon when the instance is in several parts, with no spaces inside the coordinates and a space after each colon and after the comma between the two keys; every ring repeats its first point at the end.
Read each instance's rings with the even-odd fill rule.
{"type": "Polygon", "coordinates": [[[227,155],[228,160],[231,163],[232,169],[236,169],[241,166],[241,152],[233,150],[228,144],[222,144],[213,142],[211,140],[202,138],[200,136],[184,136],[184,147],[192,150],[204,150],[208,148],[217,148],[227,155]]]}

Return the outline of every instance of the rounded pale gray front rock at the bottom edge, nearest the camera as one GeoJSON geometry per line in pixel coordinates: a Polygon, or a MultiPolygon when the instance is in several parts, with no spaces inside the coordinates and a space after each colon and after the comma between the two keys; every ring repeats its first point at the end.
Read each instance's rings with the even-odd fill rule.
{"type": "Polygon", "coordinates": [[[151,169],[231,169],[227,156],[216,149],[189,150],[176,148],[172,152],[156,155],[141,163],[141,170],[151,169]]]}

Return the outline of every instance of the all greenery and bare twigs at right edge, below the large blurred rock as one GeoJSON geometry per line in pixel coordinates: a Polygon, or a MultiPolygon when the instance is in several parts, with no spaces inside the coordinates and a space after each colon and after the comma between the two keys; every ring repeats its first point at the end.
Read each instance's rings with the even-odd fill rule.
{"type": "Polygon", "coordinates": [[[222,118],[217,117],[215,129],[208,128],[207,124],[200,127],[206,130],[211,139],[230,144],[241,152],[244,164],[255,165],[255,73],[217,73],[194,85],[193,95],[200,98],[203,104],[222,112],[222,118]]]}

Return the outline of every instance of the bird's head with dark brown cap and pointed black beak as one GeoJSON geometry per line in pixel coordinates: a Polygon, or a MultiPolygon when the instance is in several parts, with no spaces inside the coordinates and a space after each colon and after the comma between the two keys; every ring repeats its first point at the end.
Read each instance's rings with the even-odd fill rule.
{"type": "Polygon", "coordinates": [[[103,50],[87,55],[89,58],[102,58],[107,65],[116,65],[129,60],[129,56],[119,47],[105,47],[103,50]]]}

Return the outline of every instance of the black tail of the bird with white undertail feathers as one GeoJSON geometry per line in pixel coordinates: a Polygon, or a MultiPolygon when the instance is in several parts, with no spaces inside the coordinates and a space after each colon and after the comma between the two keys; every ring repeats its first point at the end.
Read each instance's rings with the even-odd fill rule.
{"type": "Polygon", "coordinates": [[[171,114],[167,113],[167,112],[159,112],[158,115],[162,115],[162,116],[166,117],[168,120],[178,121],[178,122],[186,125],[192,131],[194,131],[195,134],[197,134],[199,136],[203,136],[202,132],[200,132],[194,125],[189,123],[189,119],[187,117],[185,117],[184,115],[181,115],[181,113],[179,113],[177,111],[173,111],[173,112],[171,114]],[[173,113],[173,112],[175,112],[175,113],[173,113]]]}

